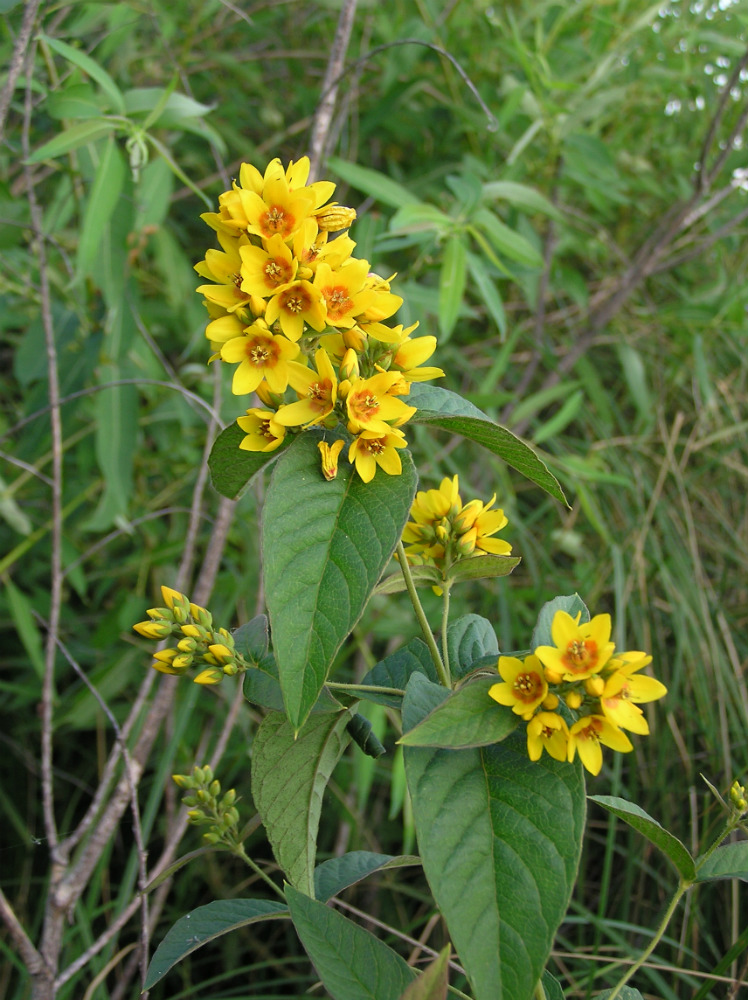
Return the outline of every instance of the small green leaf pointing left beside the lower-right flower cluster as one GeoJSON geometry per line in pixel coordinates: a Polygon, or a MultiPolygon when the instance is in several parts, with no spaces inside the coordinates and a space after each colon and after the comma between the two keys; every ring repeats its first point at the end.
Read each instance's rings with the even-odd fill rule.
{"type": "MultiPolygon", "coordinates": [[[[499,743],[514,732],[518,717],[498,705],[488,691],[500,677],[477,677],[453,691],[446,701],[431,711],[398,740],[405,746],[466,747],[499,743]]],[[[416,681],[416,683],[418,683],[416,681]]]]}

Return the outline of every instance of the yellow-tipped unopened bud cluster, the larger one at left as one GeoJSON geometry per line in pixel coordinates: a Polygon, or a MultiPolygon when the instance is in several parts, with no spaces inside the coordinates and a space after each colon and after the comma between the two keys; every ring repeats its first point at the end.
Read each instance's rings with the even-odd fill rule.
{"type": "Polygon", "coordinates": [[[225,628],[213,625],[206,608],[193,604],[171,587],[162,587],[165,607],[150,608],[149,621],[133,628],[147,639],[169,639],[176,644],[153,654],[152,666],[162,674],[181,675],[190,668],[203,669],[193,678],[196,684],[218,684],[224,675],[233,677],[248,664],[234,648],[234,637],[225,628]]]}

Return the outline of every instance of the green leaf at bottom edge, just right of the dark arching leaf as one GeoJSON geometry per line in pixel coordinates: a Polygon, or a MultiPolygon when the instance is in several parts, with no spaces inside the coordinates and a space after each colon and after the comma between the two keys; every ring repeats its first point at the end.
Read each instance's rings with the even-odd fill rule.
{"type": "Polygon", "coordinates": [[[415,972],[341,913],[286,887],[296,932],[332,1000],[400,1000],[415,972]]]}

